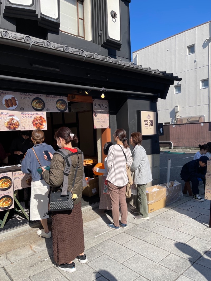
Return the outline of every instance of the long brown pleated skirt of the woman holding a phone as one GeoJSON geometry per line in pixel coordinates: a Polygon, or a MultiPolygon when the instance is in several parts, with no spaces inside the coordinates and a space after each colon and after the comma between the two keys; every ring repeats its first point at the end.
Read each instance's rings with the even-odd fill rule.
{"type": "Polygon", "coordinates": [[[84,251],[84,230],[81,203],[73,210],[52,216],[53,258],[58,264],[74,260],[84,251]]]}

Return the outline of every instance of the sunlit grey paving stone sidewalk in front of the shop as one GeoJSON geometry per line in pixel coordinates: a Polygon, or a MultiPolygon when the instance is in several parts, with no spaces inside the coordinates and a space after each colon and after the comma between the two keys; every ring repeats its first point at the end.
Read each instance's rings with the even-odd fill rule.
{"type": "MultiPolygon", "coordinates": [[[[200,193],[203,193],[201,186],[200,193]]],[[[201,196],[203,197],[203,195],[201,196]]],[[[128,227],[107,227],[111,217],[98,208],[83,212],[86,264],[60,271],[53,262],[52,240],[37,228],[0,242],[1,281],[204,281],[211,280],[210,201],[188,196],[134,219],[128,227]]],[[[74,243],[71,241],[70,243],[74,243]]]]}

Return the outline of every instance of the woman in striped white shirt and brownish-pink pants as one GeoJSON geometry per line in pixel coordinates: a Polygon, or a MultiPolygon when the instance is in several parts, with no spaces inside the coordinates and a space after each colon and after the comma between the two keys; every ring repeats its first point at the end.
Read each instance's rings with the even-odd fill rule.
{"type": "Polygon", "coordinates": [[[120,226],[127,227],[127,203],[125,198],[126,185],[128,183],[126,164],[132,165],[132,157],[129,145],[127,144],[126,132],[124,129],[117,129],[114,132],[114,141],[117,143],[109,148],[107,156],[107,185],[111,198],[111,210],[113,223],[108,227],[119,230],[120,226]],[[119,213],[120,205],[120,213],[119,213]],[[121,221],[119,221],[121,214],[121,221]]]}

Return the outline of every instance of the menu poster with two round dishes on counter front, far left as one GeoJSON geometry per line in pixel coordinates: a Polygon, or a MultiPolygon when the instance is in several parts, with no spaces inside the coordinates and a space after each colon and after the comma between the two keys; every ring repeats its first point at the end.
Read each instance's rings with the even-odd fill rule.
{"type": "Polygon", "coordinates": [[[12,172],[0,174],[0,212],[14,208],[12,172]]]}

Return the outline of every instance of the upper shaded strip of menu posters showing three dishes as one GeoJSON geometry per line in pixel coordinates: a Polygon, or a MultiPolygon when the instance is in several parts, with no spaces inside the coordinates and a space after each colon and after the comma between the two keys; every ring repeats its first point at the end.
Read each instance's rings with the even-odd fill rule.
{"type": "Polygon", "coordinates": [[[0,91],[0,110],[68,112],[67,97],[0,91]]]}

